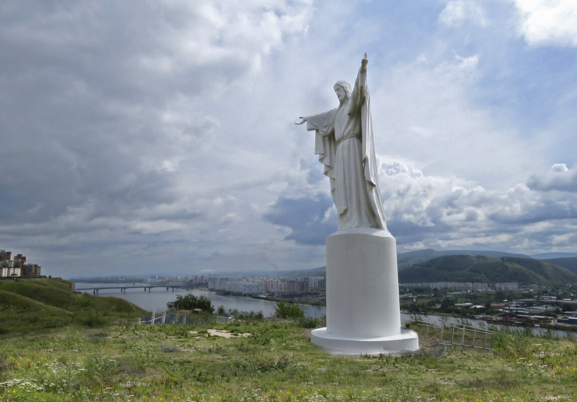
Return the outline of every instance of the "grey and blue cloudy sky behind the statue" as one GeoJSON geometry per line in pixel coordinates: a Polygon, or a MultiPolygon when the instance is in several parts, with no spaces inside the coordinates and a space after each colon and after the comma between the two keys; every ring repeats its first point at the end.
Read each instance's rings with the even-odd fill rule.
{"type": "Polygon", "coordinates": [[[398,251],[577,251],[573,0],[0,3],[0,249],[46,275],[312,268],[369,55],[398,251]]]}

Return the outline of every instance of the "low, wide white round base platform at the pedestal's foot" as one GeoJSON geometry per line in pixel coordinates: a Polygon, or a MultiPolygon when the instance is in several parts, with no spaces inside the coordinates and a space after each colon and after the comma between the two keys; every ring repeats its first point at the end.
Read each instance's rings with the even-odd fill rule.
{"type": "Polygon", "coordinates": [[[327,333],[327,328],[313,329],[312,343],[335,355],[378,355],[411,353],[419,349],[419,336],[410,329],[401,329],[400,335],[377,338],[351,338],[327,333]]]}

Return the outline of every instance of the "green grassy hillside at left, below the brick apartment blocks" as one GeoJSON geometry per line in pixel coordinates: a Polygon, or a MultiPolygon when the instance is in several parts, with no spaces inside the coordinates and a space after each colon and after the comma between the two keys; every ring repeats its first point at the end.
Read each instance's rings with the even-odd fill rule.
{"type": "Polygon", "coordinates": [[[0,332],[29,332],[67,324],[98,326],[144,313],[124,299],[74,293],[71,284],[48,278],[0,280],[0,332]]]}

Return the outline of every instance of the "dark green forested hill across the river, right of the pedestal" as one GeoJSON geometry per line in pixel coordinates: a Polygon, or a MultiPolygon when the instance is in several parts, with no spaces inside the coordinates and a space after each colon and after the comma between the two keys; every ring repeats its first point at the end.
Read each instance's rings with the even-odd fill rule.
{"type": "Polygon", "coordinates": [[[451,255],[399,271],[399,282],[577,283],[577,274],[546,261],[517,257],[451,255]]]}

